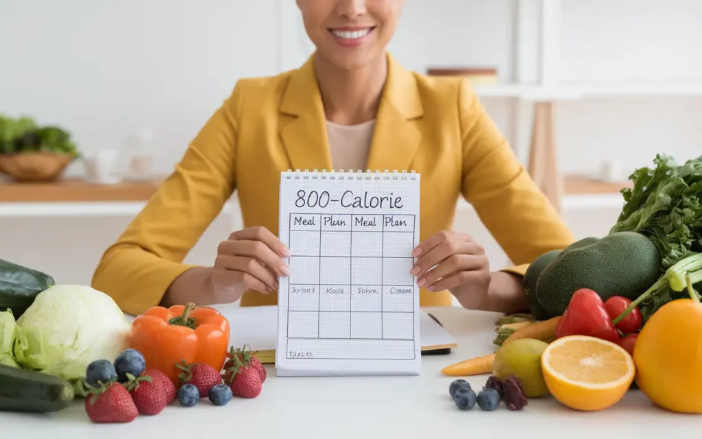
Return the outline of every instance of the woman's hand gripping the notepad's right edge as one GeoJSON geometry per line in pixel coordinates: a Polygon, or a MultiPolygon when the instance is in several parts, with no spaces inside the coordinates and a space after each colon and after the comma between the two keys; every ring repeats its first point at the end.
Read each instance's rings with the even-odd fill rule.
{"type": "Polygon", "coordinates": [[[419,244],[412,256],[417,261],[410,273],[417,276],[418,287],[448,289],[468,309],[477,309],[484,301],[491,280],[490,264],[482,245],[470,235],[437,232],[419,244]]]}

